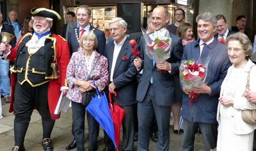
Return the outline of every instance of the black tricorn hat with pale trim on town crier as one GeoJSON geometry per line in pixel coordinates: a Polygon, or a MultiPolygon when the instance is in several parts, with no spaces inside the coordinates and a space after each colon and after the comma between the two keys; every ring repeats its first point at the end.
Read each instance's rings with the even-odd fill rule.
{"type": "Polygon", "coordinates": [[[49,10],[47,8],[32,8],[31,13],[33,14],[33,16],[47,17],[52,18],[53,20],[61,19],[60,15],[56,11],[49,10]]]}

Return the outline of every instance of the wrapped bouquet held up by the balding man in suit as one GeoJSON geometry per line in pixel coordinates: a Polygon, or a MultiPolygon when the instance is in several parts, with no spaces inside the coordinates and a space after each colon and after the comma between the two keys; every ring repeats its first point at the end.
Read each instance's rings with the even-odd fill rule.
{"type": "Polygon", "coordinates": [[[169,31],[165,28],[150,34],[146,34],[143,29],[141,31],[146,41],[145,52],[148,57],[154,59],[156,63],[166,61],[170,57],[172,44],[169,31]]]}

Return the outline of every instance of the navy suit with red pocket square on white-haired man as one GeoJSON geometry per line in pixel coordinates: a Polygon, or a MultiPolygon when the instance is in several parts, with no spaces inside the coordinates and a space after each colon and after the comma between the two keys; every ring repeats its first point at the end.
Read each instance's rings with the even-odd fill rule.
{"type": "MultiPolygon", "coordinates": [[[[109,61],[109,77],[111,76],[111,68],[113,62],[115,44],[114,41],[106,45],[105,56],[109,61]]],[[[118,104],[124,109],[123,126],[123,144],[122,150],[133,150],[133,136],[134,136],[134,104],[136,103],[136,76],[137,69],[133,64],[135,59],[132,54],[131,46],[129,45],[129,38],[124,41],[122,48],[116,59],[115,69],[113,72],[113,83],[115,84],[115,91],[117,94],[118,104]]],[[[109,145],[105,137],[106,148],[113,149],[113,145],[109,145]]]]}

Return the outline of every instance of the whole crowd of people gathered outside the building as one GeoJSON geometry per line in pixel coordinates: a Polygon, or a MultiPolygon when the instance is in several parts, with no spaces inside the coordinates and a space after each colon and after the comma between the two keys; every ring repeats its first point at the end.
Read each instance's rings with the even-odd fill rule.
{"type": "MultiPolygon", "coordinates": [[[[127,22],[120,17],[109,22],[112,39],[106,43],[104,32],[90,24],[92,10],[86,5],[77,7],[76,15],[67,13],[63,37],[51,31],[53,20],[61,19],[54,10],[33,8],[33,17],[25,18],[23,27],[16,11],[9,12],[6,23],[0,13],[0,31],[15,35],[10,43],[0,45],[1,94],[15,115],[12,150],[25,150],[24,138],[34,109],[42,117],[42,147],[53,150],[51,132],[60,118],[54,113],[60,95],[70,99],[72,106],[74,138],[66,150],[84,150],[85,114],[88,150],[97,150],[99,123],[83,104],[83,94],[95,94],[96,89],[116,93],[124,110],[122,150],[133,150],[134,141],[138,141],[139,151],[148,150],[150,138],[157,142],[157,150],[172,150],[171,111],[173,133],[183,133],[181,151],[194,150],[198,131],[204,150],[253,150],[256,124],[242,118],[244,111],[256,110],[256,67],[251,61],[253,45],[244,30],[246,17],[237,17],[237,25],[230,30],[224,15],[201,13],[196,17],[196,40],[193,27],[184,21],[184,10],[175,10],[171,25],[167,25],[170,14],[163,6],[151,12],[147,34],[167,29],[172,38],[166,61],[150,59],[142,33],[127,36],[127,22]],[[137,41],[138,57],[132,54],[131,39],[137,41]],[[184,87],[179,77],[180,62],[188,60],[208,62],[205,83],[191,89],[184,87]],[[190,101],[191,92],[198,94],[196,101],[190,101]],[[179,127],[180,118],[183,125],[179,127]]],[[[104,143],[104,151],[115,150],[105,131],[104,143]]]]}

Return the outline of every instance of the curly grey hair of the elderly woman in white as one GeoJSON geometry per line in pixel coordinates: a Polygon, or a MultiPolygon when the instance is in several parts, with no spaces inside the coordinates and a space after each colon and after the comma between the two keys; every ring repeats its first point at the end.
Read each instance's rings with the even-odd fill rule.
{"type": "Polygon", "coordinates": [[[252,52],[253,52],[252,42],[249,40],[246,34],[243,34],[241,32],[236,32],[235,34],[231,34],[230,36],[228,36],[226,40],[226,48],[228,48],[229,41],[239,41],[241,43],[244,49],[244,53],[246,55],[245,57],[246,60],[252,57],[252,52]]]}

